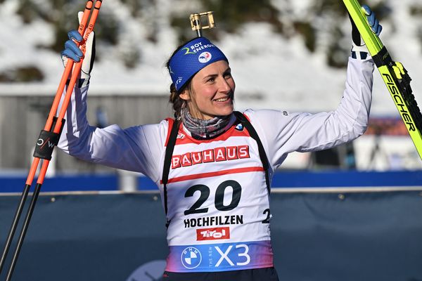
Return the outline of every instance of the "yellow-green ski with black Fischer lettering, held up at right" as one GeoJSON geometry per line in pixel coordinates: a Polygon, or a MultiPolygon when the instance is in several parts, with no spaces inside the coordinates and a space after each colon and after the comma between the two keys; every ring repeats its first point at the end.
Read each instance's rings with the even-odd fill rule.
{"type": "Polygon", "coordinates": [[[374,34],[366,21],[364,11],[357,0],[343,0],[350,17],[356,25],[369,53],[378,67],[392,100],[401,115],[407,131],[422,159],[422,115],[411,91],[411,78],[401,63],[390,57],[387,48],[374,34]]]}

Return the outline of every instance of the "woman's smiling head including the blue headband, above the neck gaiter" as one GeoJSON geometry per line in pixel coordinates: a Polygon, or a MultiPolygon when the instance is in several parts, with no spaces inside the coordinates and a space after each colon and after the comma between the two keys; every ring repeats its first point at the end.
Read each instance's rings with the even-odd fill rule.
{"type": "Polygon", "coordinates": [[[229,61],[205,37],[198,37],[174,51],[167,62],[174,116],[213,119],[233,112],[234,79],[229,61]]]}

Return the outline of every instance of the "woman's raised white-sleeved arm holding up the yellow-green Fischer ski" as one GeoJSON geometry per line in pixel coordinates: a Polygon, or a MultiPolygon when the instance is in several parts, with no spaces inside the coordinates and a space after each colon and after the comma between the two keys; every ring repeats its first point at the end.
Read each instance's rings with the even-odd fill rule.
{"type": "MultiPolygon", "coordinates": [[[[381,25],[367,7],[366,12],[373,32],[379,34],[381,25]]],[[[369,119],[373,70],[373,60],[366,47],[354,41],[347,65],[345,91],[336,110],[317,114],[278,110],[246,112],[267,144],[271,164],[279,166],[289,152],[324,150],[361,136],[369,119]]]]}

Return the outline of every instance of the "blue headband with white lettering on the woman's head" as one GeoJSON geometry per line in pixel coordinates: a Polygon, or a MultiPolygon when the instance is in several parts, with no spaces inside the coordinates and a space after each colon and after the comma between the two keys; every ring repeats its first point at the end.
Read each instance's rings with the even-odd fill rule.
{"type": "Polygon", "coordinates": [[[170,59],[169,71],[174,86],[179,91],[189,79],[207,65],[218,60],[227,60],[219,48],[205,37],[188,41],[170,59]]]}

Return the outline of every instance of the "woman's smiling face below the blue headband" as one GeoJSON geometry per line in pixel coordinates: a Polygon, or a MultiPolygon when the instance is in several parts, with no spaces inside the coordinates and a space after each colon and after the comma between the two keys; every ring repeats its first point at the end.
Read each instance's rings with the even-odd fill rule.
{"type": "Polygon", "coordinates": [[[229,63],[219,60],[200,70],[191,80],[192,91],[185,89],[180,97],[187,101],[192,117],[212,119],[233,112],[235,86],[229,63]]]}

